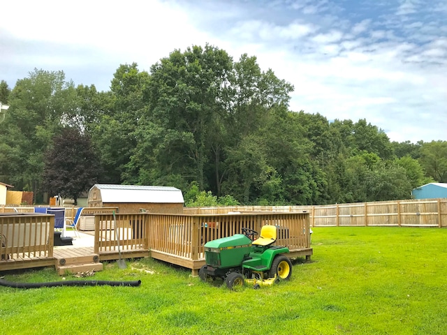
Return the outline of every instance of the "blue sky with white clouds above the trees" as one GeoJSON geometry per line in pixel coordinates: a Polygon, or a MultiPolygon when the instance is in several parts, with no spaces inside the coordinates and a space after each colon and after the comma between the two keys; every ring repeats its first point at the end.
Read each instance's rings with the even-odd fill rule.
{"type": "Polygon", "coordinates": [[[107,91],[120,64],[209,43],[294,86],[289,109],[390,140],[447,140],[447,0],[6,1],[0,80],[63,70],[107,91]]]}

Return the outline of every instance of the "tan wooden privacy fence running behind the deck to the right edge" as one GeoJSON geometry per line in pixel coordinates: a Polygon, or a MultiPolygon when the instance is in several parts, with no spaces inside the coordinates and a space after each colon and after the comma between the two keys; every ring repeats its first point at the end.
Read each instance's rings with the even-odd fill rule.
{"type": "Polygon", "coordinates": [[[187,214],[217,214],[228,211],[308,211],[312,227],[411,226],[447,227],[447,199],[394,200],[320,206],[185,207],[187,214]]]}

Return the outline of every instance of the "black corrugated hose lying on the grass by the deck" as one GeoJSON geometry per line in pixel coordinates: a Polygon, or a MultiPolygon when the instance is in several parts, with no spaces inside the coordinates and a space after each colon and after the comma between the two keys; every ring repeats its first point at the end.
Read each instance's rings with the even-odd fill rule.
{"type": "Polygon", "coordinates": [[[141,281],[50,281],[47,283],[14,283],[0,279],[0,286],[7,288],[54,288],[57,286],[140,286],[141,281]]]}

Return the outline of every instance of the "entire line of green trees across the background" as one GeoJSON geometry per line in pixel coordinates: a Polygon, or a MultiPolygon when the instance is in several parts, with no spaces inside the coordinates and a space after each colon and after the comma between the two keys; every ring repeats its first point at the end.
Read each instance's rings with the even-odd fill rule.
{"type": "MultiPolygon", "coordinates": [[[[150,70],[124,64],[109,91],[38,70],[0,101],[0,181],[78,198],[94,183],[175,186],[216,204],[396,200],[447,182],[447,142],[390,142],[367,122],[288,107],[293,85],[212,45],[150,70]]],[[[205,200],[204,200],[205,201],[205,200]]]]}

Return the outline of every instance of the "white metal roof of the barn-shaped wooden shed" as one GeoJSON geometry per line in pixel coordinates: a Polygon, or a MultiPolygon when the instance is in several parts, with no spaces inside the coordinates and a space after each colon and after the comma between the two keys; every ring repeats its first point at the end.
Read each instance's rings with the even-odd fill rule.
{"type": "Polygon", "coordinates": [[[135,203],[183,203],[183,194],[172,186],[141,186],[141,185],[110,185],[96,184],[90,188],[101,190],[104,202],[135,202],[135,203]]]}

